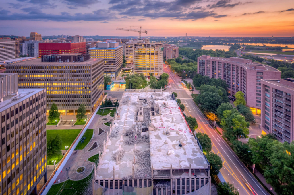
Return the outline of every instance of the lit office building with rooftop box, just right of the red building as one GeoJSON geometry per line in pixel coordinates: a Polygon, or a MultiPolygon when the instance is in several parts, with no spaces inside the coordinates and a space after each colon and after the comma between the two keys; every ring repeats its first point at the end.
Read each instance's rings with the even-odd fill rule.
{"type": "Polygon", "coordinates": [[[91,58],[102,58],[104,75],[115,78],[123,65],[123,47],[118,42],[101,42],[98,47],[90,48],[91,58]]]}

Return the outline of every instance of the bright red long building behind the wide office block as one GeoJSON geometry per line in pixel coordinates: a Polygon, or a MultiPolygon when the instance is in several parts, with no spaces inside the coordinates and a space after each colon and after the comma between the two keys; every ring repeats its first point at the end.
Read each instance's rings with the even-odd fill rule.
{"type": "Polygon", "coordinates": [[[50,54],[86,54],[86,42],[39,43],[39,57],[50,54]]]}

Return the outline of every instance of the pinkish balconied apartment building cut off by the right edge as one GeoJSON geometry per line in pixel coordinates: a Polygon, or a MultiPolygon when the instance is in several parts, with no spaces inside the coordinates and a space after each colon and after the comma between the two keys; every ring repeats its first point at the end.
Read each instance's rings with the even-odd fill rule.
{"type": "Polygon", "coordinates": [[[261,80],[261,129],[281,142],[294,140],[294,79],[261,80]]]}

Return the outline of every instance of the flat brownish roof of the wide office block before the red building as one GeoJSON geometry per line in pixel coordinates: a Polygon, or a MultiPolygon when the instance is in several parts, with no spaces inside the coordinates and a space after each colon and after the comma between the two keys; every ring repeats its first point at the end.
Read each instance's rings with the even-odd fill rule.
{"type": "MultiPolygon", "coordinates": [[[[67,54],[66,54],[67,55],[67,54]]],[[[37,58],[34,60],[30,61],[22,61],[18,62],[14,65],[88,65],[88,64],[93,64],[95,62],[103,61],[102,58],[91,58],[88,59],[87,61],[83,62],[42,62],[41,58],[37,58]]]]}

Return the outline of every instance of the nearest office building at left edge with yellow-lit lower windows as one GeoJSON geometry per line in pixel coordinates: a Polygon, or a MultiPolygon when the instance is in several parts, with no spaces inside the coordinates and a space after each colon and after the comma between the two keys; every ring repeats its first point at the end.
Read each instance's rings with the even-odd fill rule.
{"type": "Polygon", "coordinates": [[[46,90],[18,89],[17,74],[0,74],[0,82],[0,194],[36,194],[47,180],[46,90]]]}

